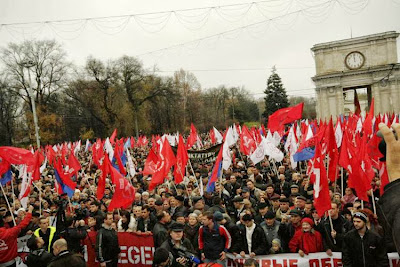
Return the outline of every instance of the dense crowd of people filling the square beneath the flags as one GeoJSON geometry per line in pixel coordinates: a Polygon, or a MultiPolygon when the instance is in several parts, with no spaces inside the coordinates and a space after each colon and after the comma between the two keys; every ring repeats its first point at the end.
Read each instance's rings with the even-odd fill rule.
{"type": "Polygon", "coordinates": [[[343,173],[330,183],[331,209],[319,216],[310,177],[301,168],[292,169],[287,156],[276,166],[268,160],[254,166],[233,148],[235,160],[213,192],[201,186],[207,184],[213,163],[201,162],[192,164],[182,183],[175,184],[170,174],[164,184],[149,190],[151,177],[142,173],[149,148],[131,150],[137,174],[127,179],[136,188],[134,201],[113,211],[107,209],[114,192],[110,179],[103,198],[96,197],[101,170],[92,163],[90,151],[78,153],[82,170],[74,177],[77,188],[71,198],[55,191],[55,173],[48,166],[32,186],[27,209],[18,200],[22,181],[14,168],[0,199],[0,266],[16,266],[16,238],[25,235],[31,235],[27,266],[85,266],[82,241],[91,231],[97,233],[91,242],[102,267],[118,264],[117,232],[151,233],[154,266],[225,266],[226,253],[253,258],[314,252],[342,252],[343,266],[389,266],[387,253],[399,248],[393,238],[397,226],[391,224],[397,217],[388,207],[398,203],[393,200],[399,192],[396,181],[386,189],[392,197],[375,208],[378,174],[372,181],[376,199],[370,192],[370,201],[364,202],[347,187],[343,173]],[[391,214],[387,225],[378,222],[382,215],[376,209],[386,217],[391,214]]]}

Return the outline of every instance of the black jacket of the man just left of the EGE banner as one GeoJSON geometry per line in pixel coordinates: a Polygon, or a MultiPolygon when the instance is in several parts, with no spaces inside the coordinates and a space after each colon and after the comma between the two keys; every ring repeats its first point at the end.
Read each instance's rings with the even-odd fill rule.
{"type": "Polygon", "coordinates": [[[103,227],[97,232],[96,236],[96,258],[99,262],[108,262],[118,259],[121,251],[118,244],[118,235],[114,229],[103,227]]]}

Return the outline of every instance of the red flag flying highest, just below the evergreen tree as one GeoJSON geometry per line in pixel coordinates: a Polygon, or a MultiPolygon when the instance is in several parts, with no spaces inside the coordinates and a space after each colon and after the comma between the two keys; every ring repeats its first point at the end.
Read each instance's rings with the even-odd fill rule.
{"type": "Polygon", "coordinates": [[[301,119],[304,103],[293,107],[281,108],[275,111],[268,118],[268,129],[271,132],[283,132],[285,124],[301,119]]]}

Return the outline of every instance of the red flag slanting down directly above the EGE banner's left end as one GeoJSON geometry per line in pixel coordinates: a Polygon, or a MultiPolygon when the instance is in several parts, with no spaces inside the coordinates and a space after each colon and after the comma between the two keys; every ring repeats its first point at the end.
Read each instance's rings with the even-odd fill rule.
{"type": "Polygon", "coordinates": [[[108,210],[128,208],[135,200],[136,190],[113,166],[110,165],[109,168],[115,190],[108,210]]]}

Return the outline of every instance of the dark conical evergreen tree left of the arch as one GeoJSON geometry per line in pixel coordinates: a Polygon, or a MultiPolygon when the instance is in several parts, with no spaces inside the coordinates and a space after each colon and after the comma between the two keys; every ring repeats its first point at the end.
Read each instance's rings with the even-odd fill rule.
{"type": "Polygon", "coordinates": [[[268,78],[265,93],[265,111],[264,117],[268,121],[269,115],[281,108],[289,106],[289,100],[286,90],[283,87],[281,77],[276,73],[275,67],[272,68],[272,74],[268,78]]]}

